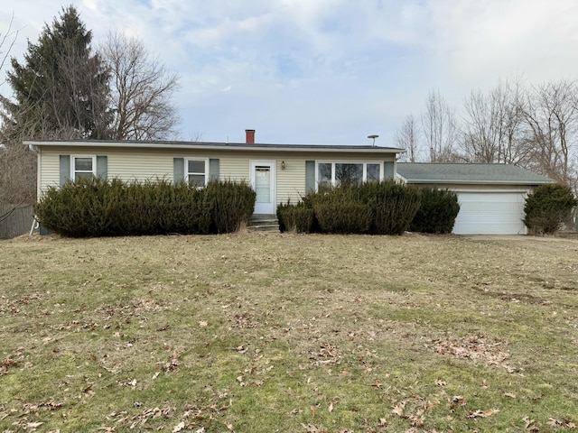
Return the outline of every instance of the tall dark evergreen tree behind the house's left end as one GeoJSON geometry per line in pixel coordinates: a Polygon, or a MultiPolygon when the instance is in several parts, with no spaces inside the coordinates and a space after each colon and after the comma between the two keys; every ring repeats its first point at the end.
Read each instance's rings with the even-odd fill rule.
{"type": "Polygon", "coordinates": [[[6,76],[14,98],[0,97],[5,141],[107,138],[109,72],[91,41],[68,6],[37,43],[28,42],[23,64],[12,59],[6,76]]]}

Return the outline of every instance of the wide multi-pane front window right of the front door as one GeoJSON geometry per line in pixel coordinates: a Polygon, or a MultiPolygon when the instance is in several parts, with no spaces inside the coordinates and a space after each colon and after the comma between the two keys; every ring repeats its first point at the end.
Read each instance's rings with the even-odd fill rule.
{"type": "Polygon", "coordinates": [[[317,186],[331,187],[342,182],[371,182],[382,179],[379,162],[318,162],[317,186]]]}

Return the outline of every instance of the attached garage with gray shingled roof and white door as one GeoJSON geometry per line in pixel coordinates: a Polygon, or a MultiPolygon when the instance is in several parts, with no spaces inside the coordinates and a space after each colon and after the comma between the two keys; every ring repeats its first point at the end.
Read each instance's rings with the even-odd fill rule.
{"type": "Polygon", "coordinates": [[[453,226],[459,235],[525,235],[528,192],[554,180],[508,164],[396,164],[396,178],[408,184],[451,189],[460,213],[453,226]]]}

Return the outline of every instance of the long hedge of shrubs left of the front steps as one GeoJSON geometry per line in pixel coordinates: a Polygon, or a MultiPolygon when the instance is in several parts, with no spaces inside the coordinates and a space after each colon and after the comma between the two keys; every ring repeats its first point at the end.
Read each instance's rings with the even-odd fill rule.
{"type": "Polygon", "coordinates": [[[69,237],[204,235],[238,230],[256,193],[245,182],[125,182],[84,179],[49,188],[34,207],[40,224],[69,237]]]}

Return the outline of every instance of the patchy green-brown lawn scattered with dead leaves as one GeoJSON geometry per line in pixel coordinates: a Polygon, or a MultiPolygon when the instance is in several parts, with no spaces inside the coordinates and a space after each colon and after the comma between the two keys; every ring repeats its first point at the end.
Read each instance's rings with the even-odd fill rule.
{"type": "Polygon", "coordinates": [[[568,431],[578,240],[0,242],[0,431],[568,431]]]}

